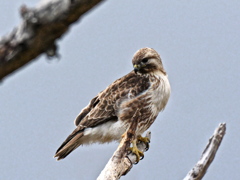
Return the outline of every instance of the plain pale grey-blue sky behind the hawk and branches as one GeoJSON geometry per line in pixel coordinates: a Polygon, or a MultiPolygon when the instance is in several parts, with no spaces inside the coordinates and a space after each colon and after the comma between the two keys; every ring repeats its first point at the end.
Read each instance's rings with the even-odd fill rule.
{"type": "MultiPolygon", "coordinates": [[[[21,4],[0,2],[0,35],[20,23],[21,4]]],[[[150,130],[145,158],[123,180],[182,179],[221,122],[227,134],[204,179],[239,180],[240,1],[109,0],[60,40],[60,60],[42,55],[0,85],[0,179],[96,179],[117,143],[53,155],[89,100],[132,70],[142,47],[157,50],[172,86],[150,130]]]]}

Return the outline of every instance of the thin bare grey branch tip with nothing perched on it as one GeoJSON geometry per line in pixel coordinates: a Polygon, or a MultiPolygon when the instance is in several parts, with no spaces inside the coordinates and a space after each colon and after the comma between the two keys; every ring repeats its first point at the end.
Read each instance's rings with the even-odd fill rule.
{"type": "Polygon", "coordinates": [[[209,139],[209,142],[204,149],[200,160],[195,167],[187,174],[184,180],[200,180],[205,175],[208,167],[212,163],[217,150],[222,142],[222,139],[226,132],[226,124],[221,123],[215,130],[213,136],[209,139]]]}

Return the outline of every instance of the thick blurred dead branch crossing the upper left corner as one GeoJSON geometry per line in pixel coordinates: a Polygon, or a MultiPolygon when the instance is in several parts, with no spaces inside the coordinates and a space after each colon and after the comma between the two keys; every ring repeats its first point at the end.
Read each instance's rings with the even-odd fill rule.
{"type": "Polygon", "coordinates": [[[56,40],[103,0],[45,0],[36,8],[20,9],[21,24],[0,39],[0,80],[42,53],[57,55],[56,40]]]}

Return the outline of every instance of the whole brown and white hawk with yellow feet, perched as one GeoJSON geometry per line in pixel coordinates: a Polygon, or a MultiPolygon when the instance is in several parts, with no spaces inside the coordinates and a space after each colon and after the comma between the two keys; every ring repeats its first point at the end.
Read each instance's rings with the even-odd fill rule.
{"type": "Polygon", "coordinates": [[[168,76],[159,54],[152,48],[138,50],[132,59],[134,69],[94,97],[75,119],[76,129],[56,151],[57,160],[65,158],[80,145],[120,141],[136,110],[138,123],[132,152],[137,161],[143,156],[138,140],[162,111],[170,96],[168,76]]]}

